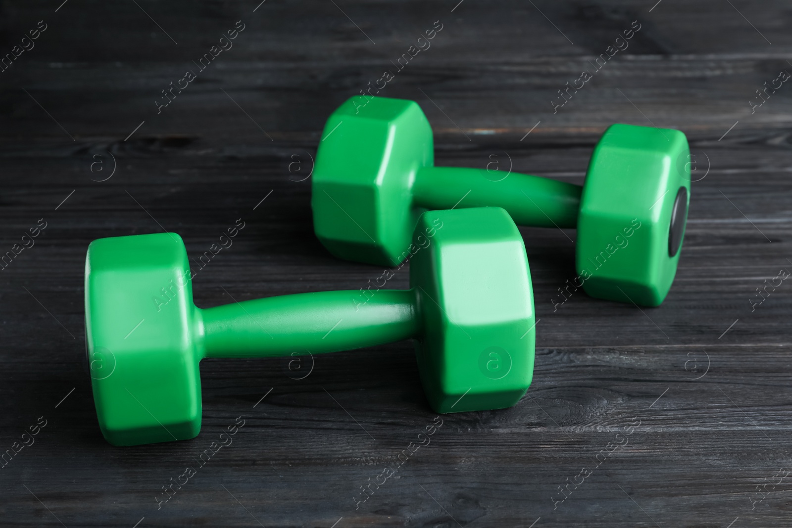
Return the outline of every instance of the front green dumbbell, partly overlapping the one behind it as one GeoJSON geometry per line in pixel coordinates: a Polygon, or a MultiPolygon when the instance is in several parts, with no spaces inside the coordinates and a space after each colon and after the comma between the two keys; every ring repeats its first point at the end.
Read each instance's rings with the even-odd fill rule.
{"type": "Polygon", "coordinates": [[[116,446],[200,431],[203,358],[280,357],[413,338],[437,412],[515,405],[531,383],[534,304],[520,232],[499,207],[428,211],[409,290],[321,291],[200,309],[173,233],[100,238],[86,258],[86,347],[116,446]]]}

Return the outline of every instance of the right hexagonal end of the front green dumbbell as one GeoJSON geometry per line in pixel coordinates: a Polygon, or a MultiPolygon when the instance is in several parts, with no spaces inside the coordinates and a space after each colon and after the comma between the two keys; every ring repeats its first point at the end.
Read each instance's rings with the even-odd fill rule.
{"type": "Polygon", "coordinates": [[[410,260],[424,336],[421,382],[436,412],[515,405],[531,384],[534,302],[520,231],[500,207],[428,211],[410,260]]]}

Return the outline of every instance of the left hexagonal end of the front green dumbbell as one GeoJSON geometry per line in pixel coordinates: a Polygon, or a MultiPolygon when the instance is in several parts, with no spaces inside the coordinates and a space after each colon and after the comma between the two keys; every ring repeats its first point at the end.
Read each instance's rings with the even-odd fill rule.
{"type": "Polygon", "coordinates": [[[187,252],[175,233],[100,238],[86,256],[86,352],[116,446],[198,435],[200,374],[187,252]]]}

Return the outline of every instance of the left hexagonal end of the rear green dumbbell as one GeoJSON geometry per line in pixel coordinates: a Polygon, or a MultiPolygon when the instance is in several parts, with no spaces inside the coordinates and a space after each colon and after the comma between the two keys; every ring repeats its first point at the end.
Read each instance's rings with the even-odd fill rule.
{"type": "Polygon", "coordinates": [[[432,128],[414,101],[351,97],[327,120],[311,191],[314,230],[333,255],[394,266],[421,210],[412,187],[432,165],[432,128]]]}

